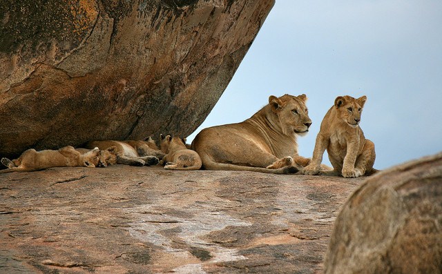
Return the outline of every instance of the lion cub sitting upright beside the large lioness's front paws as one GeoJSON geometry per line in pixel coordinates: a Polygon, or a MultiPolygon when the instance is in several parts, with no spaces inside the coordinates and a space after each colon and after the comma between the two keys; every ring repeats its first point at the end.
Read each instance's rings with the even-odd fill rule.
{"type": "Polygon", "coordinates": [[[375,171],[374,144],[365,139],[359,126],[365,101],[365,96],[358,99],[350,96],[336,97],[334,106],[320,124],[313,157],[303,170],[305,175],[319,173],[325,149],[334,173],[342,174],[343,177],[370,175],[375,171]]]}

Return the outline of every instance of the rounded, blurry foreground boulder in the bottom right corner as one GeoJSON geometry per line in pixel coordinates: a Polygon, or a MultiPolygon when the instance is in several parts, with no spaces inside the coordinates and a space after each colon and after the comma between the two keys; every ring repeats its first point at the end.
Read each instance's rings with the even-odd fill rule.
{"type": "Polygon", "coordinates": [[[442,153],[356,190],[336,219],[325,273],[442,273],[442,153]]]}

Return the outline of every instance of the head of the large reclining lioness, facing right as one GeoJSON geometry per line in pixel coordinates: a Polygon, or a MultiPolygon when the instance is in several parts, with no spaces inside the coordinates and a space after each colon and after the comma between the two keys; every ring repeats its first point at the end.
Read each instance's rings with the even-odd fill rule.
{"type": "Polygon", "coordinates": [[[278,115],[282,132],[285,135],[305,135],[309,131],[311,119],[305,102],[306,95],[269,97],[271,110],[278,115]]]}

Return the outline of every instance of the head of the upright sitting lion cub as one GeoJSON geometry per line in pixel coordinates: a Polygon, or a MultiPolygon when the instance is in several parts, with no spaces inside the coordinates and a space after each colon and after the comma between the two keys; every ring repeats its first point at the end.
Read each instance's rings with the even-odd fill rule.
{"type": "Polygon", "coordinates": [[[359,97],[358,99],[354,99],[348,95],[338,96],[334,100],[334,106],[338,111],[339,117],[349,126],[356,128],[361,121],[361,114],[365,101],[367,101],[366,96],[359,97]]]}

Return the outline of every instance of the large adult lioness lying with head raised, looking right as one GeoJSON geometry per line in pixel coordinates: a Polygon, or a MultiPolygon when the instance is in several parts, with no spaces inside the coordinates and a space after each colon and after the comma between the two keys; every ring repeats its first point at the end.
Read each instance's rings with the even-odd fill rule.
{"type": "Polygon", "coordinates": [[[269,97],[269,104],[238,124],[205,128],[191,148],[211,170],[296,172],[309,164],[298,155],[297,135],[305,135],[311,119],[306,95],[269,97]]]}

